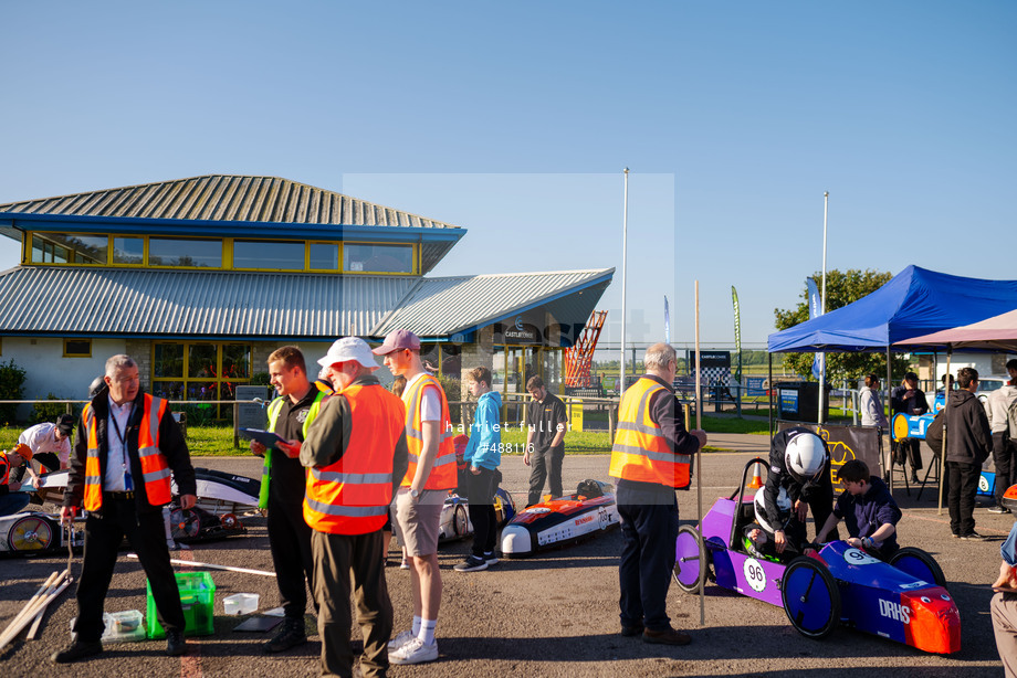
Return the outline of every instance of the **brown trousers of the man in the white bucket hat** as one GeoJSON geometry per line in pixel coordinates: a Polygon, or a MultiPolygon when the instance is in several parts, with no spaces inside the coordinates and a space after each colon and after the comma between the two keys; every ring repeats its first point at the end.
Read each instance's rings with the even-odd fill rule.
{"type": "Polygon", "coordinates": [[[360,674],[385,676],[388,640],[392,635],[392,603],[385,582],[385,561],[379,557],[381,531],[367,534],[314,531],[311,540],[318,635],[322,637],[322,676],[353,676],[350,592],[364,638],[360,674]]]}

